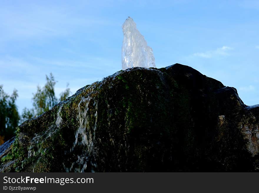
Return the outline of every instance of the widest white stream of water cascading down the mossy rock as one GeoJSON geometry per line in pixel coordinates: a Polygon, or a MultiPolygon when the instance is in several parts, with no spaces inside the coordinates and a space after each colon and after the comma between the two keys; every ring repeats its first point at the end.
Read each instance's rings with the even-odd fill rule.
{"type": "Polygon", "coordinates": [[[75,131],[75,140],[70,152],[77,152],[77,147],[80,147],[81,152],[77,154],[77,160],[72,162],[70,167],[65,167],[66,172],[84,172],[88,167],[87,163],[91,164],[91,172],[94,172],[95,153],[94,140],[95,131],[97,129],[97,108],[98,103],[95,99],[96,83],[94,86],[89,86],[87,89],[87,96],[82,98],[78,104],[77,119],[79,127],[75,131]],[[91,157],[91,159],[90,159],[91,157]]]}

